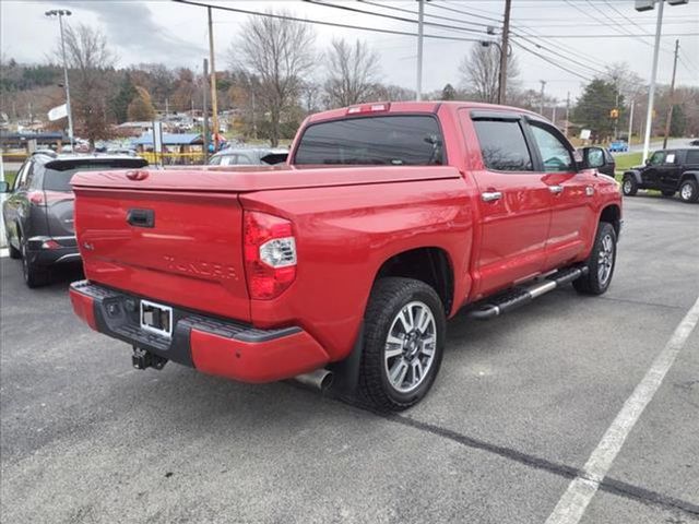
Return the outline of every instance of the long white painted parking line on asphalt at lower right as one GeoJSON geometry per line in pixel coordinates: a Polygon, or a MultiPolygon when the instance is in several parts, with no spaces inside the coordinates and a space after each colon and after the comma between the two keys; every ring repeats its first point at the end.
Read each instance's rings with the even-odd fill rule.
{"type": "Polygon", "coordinates": [[[614,458],[621,450],[624,441],[659,390],[697,322],[699,322],[699,298],[679,322],[673,336],[657,355],[643,380],[639,382],[631,396],[624,403],[624,407],[590,455],[580,475],[570,483],[556,508],[546,519],[546,524],[577,524],[580,522],[588,504],[597,491],[600,483],[604,480],[614,458]]]}

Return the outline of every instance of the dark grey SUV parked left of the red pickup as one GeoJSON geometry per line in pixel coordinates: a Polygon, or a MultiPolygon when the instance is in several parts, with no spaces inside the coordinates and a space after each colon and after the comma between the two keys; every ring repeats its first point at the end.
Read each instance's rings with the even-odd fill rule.
{"type": "Polygon", "coordinates": [[[10,257],[22,259],[29,287],[44,285],[56,264],[80,262],[73,230],[73,192],[70,179],[79,170],[141,168],[143,158],[121,155],[57,155],[42,151],[22,165],[2,205],[10,257]]]}

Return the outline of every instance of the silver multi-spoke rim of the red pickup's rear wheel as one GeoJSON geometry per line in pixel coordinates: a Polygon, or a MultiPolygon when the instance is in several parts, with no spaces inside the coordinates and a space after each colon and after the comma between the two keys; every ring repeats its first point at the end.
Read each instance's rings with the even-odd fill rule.
{"type": "Polygon", "coordinates": [[[383,348],[386,376],[395,391],[415,391],[429,374],[437,349],[437,323],[429,307],[420,301],[398,312],[383,348]]]}

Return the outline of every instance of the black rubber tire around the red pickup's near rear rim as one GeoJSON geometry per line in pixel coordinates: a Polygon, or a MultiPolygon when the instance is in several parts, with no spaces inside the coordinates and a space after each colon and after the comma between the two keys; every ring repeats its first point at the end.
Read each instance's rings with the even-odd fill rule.
{"type": "MultiPolygon", "coordinates": [[[[420,313],[420,317],[425,313],[420,313]]],[[[412,315],[412,313],[411,313],[412,315]]],[[[427,318],[427,317],[426,317],[427,318]]],[[[435,378],[441,366],[441,358],[445,347],[445,336],[447,332],[447,320],[445,315],[443,305],[435,291],[427,284],[412,278],[388,277],[380,278],[376,282],[369,303],[364,317],[364,349],[362,354],[362,366],[359,369],[359,398],[370,404],[371,407],[380,412],[399,412],[417,404],[429,391],[435,378]],[[419,330],[417,330],[416,343],[411,346],[410,342],[403,342],[402,346],[393,346],[395,349],[403,352],[399,356],[388,357],[384,352],[389,345],[389,331],[393,327],[402,329],[403,324],[399,324],[399,314],[410,303],[416,303],[415,308],[425,306],[433,315],[434,323],[429,323],[420,338],[419,330]],[[436,337],[431,343],[433,356],[431,360],[420,360],[420,369],[425,362],[429,362],[427,371],[422,374],[407,364],[412,352],[412,361],[415,359],[429,359],[423,354],[422,341],[428,338],[429,333],[434,331],[436,337]],[[429,332],[429,333],[428,333],[429,332]],[[415,346],[419,346],[417,349],[415,346]],[[402,348],[401,348],[402,347],[402,348]],[[412,347],[412,349],[411,349],[412,347]],[[423,357],[420,357],[423,355],[423,357]],[[406,372],[403,378],[398,379],[399,382],[406,380],[408,372],[413,380],[417,380],[415,388],[411,391],[400,391],[389,379],[389,359],[393,358],[393,366],[404,366],[406,372]],[[398,362],[401,359],[405,364],[398,362]],[[410,370],[410,371],[408,371],[410,370]]],[[[416,322],[419,323],[419,322],[416,322]]],[[[412,332],[411,332],[412,333],[412,332]]],[[[403,341],[408,341],[410,335],[403,341]]],[[[429,344],[425,342],[426,344],[429,344]]],[[[398,368],[394,368],[398,369],[398,368]]],[[[399,373],[400,374],[400,373],[399,373]]]]}

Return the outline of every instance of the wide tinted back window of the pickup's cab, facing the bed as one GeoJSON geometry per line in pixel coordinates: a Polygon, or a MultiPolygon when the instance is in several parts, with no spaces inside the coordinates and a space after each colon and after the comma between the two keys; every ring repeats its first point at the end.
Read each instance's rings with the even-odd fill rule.
{"type": "Polygon", "coordinates": [[[296,165],[438,166],[443,140],[431,115],[363,117],[309,126],[296,165]]]}

